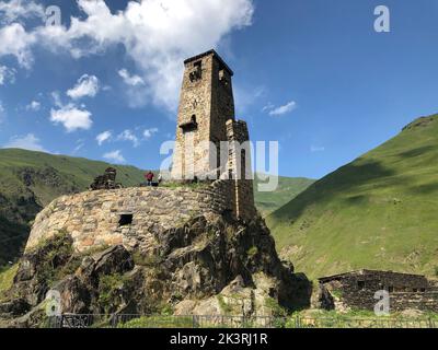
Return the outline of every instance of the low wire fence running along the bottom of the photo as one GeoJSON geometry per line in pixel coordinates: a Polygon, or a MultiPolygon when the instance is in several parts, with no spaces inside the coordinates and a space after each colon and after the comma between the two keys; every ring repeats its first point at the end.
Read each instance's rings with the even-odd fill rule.
{"type": "Polygon", "coordinates": [[[359,317],[273,316],[145,316],[72,315],[53,316],[49,328],[437,328],[433,318],[391,319],[359,317]]]}

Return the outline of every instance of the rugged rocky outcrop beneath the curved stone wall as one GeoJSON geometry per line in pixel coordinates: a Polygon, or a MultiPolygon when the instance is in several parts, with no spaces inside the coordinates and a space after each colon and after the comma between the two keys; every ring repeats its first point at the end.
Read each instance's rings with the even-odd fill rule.
{"type": "Polygon", "coordinates": [[[64,313],[269,315],[307,306],[309,283],[281,262],[264,221],[198,215],[154,233],[154,249],[115,245],[79,253],[68,233],[20,262],[0,304],[11,326],[37,326],[49,290],[64,313]]]}

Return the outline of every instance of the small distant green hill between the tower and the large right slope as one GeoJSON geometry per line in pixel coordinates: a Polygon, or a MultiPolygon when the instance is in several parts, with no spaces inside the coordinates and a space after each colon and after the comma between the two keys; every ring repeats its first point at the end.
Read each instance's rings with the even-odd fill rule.
{"type": "Polygon", "coordinates": [[[291,199],[301,194],[314,179],[302,177],[278,177],[278,188],[273,192],[257,191],[258,178],[254,183],[255,202],[263,215],[267,215],[281,208],[291,199]]]}

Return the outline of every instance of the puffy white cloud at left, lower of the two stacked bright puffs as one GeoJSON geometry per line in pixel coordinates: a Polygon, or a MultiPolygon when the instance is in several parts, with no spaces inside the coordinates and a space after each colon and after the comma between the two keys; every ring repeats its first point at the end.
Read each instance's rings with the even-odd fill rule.
{"type": "Polygon", "coordinates": [[[67,132],[79,129],[89,130],[93,125],[92,114],[87,109],[79,109],[73,104],[62,106],[60,109],[51,109],[50,120],[54,124],[62,124],[67,132]]]}

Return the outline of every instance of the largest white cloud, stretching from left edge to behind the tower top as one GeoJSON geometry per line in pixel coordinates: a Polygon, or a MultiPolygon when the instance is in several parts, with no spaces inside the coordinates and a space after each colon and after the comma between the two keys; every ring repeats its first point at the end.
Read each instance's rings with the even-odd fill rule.
{"type": "Polygon", "coordinates": [[[3,28],[0,57],[14,55],[30,67],[35,44],[54,52],[68,50],[74,58],[122,44],[141,71],[146,102],[171,110],[177,106],[182,61],[217,47],[233,30],[251,25],[254,12],[252,0],[129,1],[115,13],[104,0],[78,0],[78,5],[84,15],[71,18],[70,27],[39,26],[26,33],[15,23],[3,28]]]}

